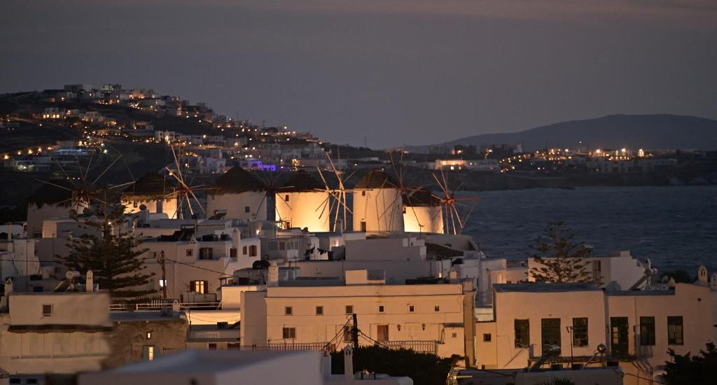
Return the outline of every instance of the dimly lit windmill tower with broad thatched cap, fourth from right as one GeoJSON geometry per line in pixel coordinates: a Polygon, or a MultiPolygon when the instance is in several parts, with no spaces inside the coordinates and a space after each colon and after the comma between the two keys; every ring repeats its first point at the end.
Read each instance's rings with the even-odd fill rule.
{"type": "Polygon", "coordinates": [[[239,166],[229,168],[206,194],[206,212],[227,210],[227,218],[267,220],[267,186],[239,166]]]}

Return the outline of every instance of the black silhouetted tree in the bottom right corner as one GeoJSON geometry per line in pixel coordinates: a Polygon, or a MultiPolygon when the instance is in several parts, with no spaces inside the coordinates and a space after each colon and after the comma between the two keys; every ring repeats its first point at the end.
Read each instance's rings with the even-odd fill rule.
{"type": "Polygon", "coordinates": [[[665,382],[669,385],[714,384],[717,379],[717,348],[707,343],[699,356],[680,355],[668,350],[671,360],[665,363],[665,382]]]}

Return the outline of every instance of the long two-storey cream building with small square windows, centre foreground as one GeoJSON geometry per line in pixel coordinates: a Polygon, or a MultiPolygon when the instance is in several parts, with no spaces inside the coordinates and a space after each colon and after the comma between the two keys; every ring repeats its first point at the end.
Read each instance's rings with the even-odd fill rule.
{"type": "Polygon", "coordinates": [[[369,270],[347,271],[343,282],[269,275],[266,290],[242,293],[242,346],[343,348],[356,314],[365,343],[474,359],[470,281],[386,285],[383,272],[369,270]]]}

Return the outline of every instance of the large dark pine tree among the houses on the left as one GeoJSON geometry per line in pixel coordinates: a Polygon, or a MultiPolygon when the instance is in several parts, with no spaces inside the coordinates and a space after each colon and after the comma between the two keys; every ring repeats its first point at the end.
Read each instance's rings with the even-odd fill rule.
{"type": "Polygon", "coordinates": [[[113,299],[134,300],[155,293],[146,290],[154,273],[143,272],[146,249],[132,234],[122,234],[127,220],[124,207],[108,205],[92,217],[76,218],[87,234],[70,239],[67,257],[57,256],[70,270],[86,274],[92,270],[100,290],[107,290],[113,299]]]}

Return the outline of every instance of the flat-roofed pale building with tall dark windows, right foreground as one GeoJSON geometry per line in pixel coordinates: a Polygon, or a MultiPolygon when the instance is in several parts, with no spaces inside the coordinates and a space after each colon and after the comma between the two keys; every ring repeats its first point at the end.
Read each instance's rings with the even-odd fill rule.
{"type": "Polygon", "coordinates": [[[545,345],[559,346],[556,363],[585,363],[604,344],[607,361],[657,379],[669,348],[685,354],[717,341],[717,282],[701,280],[673,290],[612,292],[588,284],[494,285],[495,319],[475,327],[476,365],[520,369],[536,361],[545,345]]]}

